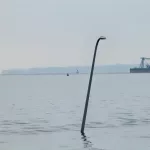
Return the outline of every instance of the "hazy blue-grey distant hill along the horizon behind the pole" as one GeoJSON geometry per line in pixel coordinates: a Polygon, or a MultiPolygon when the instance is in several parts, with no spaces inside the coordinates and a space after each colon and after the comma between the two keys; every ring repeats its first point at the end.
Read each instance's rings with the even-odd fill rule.
{"type": "MultiPolygon", "coordinates": [[[[138,65],[116,64],[116,65],[103,65],[95,66],[94,73],[128,73],[130,68],[138,67],[138,65]]],[[[89,66],[76,66],[76,67],[47,67],[47,68],[29,68],[29,69],[9,69],[3,70],[3,75],[28,75],[28,74],[79,74],[90,73],[91,67],[89,66]]]]}

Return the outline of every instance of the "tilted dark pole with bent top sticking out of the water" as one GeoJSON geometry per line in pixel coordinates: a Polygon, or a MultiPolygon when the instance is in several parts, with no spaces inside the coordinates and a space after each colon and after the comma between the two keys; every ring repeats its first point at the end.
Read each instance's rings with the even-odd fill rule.
{"type": "Polygon", "coordinates": [[[89,85],[88,85],[88,90],[87,90],[87,96],[86,96],[86,102],[85,102],[85,108],[84,108],[84,114],[83,114],[83,120],[82,120],[82,126],[81,126],[81,133],[82,134],[84,134],[84,127],[85,127],[85,121],[86,121],[86,115],[87,115],[87,109],[88,109],[89,96],[90,96],[90,91],[91,91],[91,84],[92,84],[92,78],[93,78],[93,71],[94,71],[97,47],[98,47],[99,41],[100,40],[105,40],[105,39],[106,39],[105,37],[101,36],[97,40],[96,45],[95,45],[95,51],[94,51],[94,55],[93,55],[91,74],[90,74],[90,79],[89,79],[89,85]]]}

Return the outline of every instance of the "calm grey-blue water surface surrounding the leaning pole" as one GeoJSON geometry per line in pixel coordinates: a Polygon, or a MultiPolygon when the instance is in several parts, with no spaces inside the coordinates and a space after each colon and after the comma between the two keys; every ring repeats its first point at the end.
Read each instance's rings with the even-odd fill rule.
{"type": "Polygon", "coordinates": [[[2,150],[149,150],[149,74],[0,76],[2,150]]]}

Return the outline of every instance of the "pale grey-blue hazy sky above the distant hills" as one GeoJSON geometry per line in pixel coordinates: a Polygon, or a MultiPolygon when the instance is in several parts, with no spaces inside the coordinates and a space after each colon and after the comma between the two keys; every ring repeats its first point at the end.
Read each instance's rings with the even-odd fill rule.
{"type": "Polygon", "coordinates": [[[149,0],[0,1],[0,70],[137,64],[150,57],[149,0]]]}

